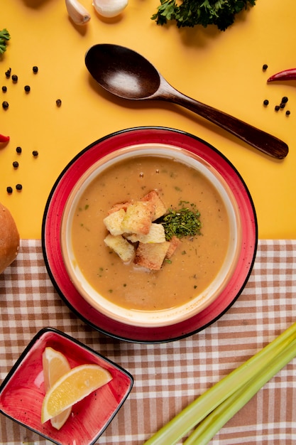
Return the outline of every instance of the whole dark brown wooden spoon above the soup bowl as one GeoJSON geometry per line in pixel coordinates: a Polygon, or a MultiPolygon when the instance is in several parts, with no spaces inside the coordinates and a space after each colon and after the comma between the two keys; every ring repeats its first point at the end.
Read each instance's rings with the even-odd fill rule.
{"type": "Polygon", "coordinates": [[[136,51],[110,43],[97,44],[87,51],[85,65],[99,85],[113,95],[128,100],[164,100],[181,105],[275,159],[287,156],[289,149],[285,142],[182,94],[136,51]]]}

